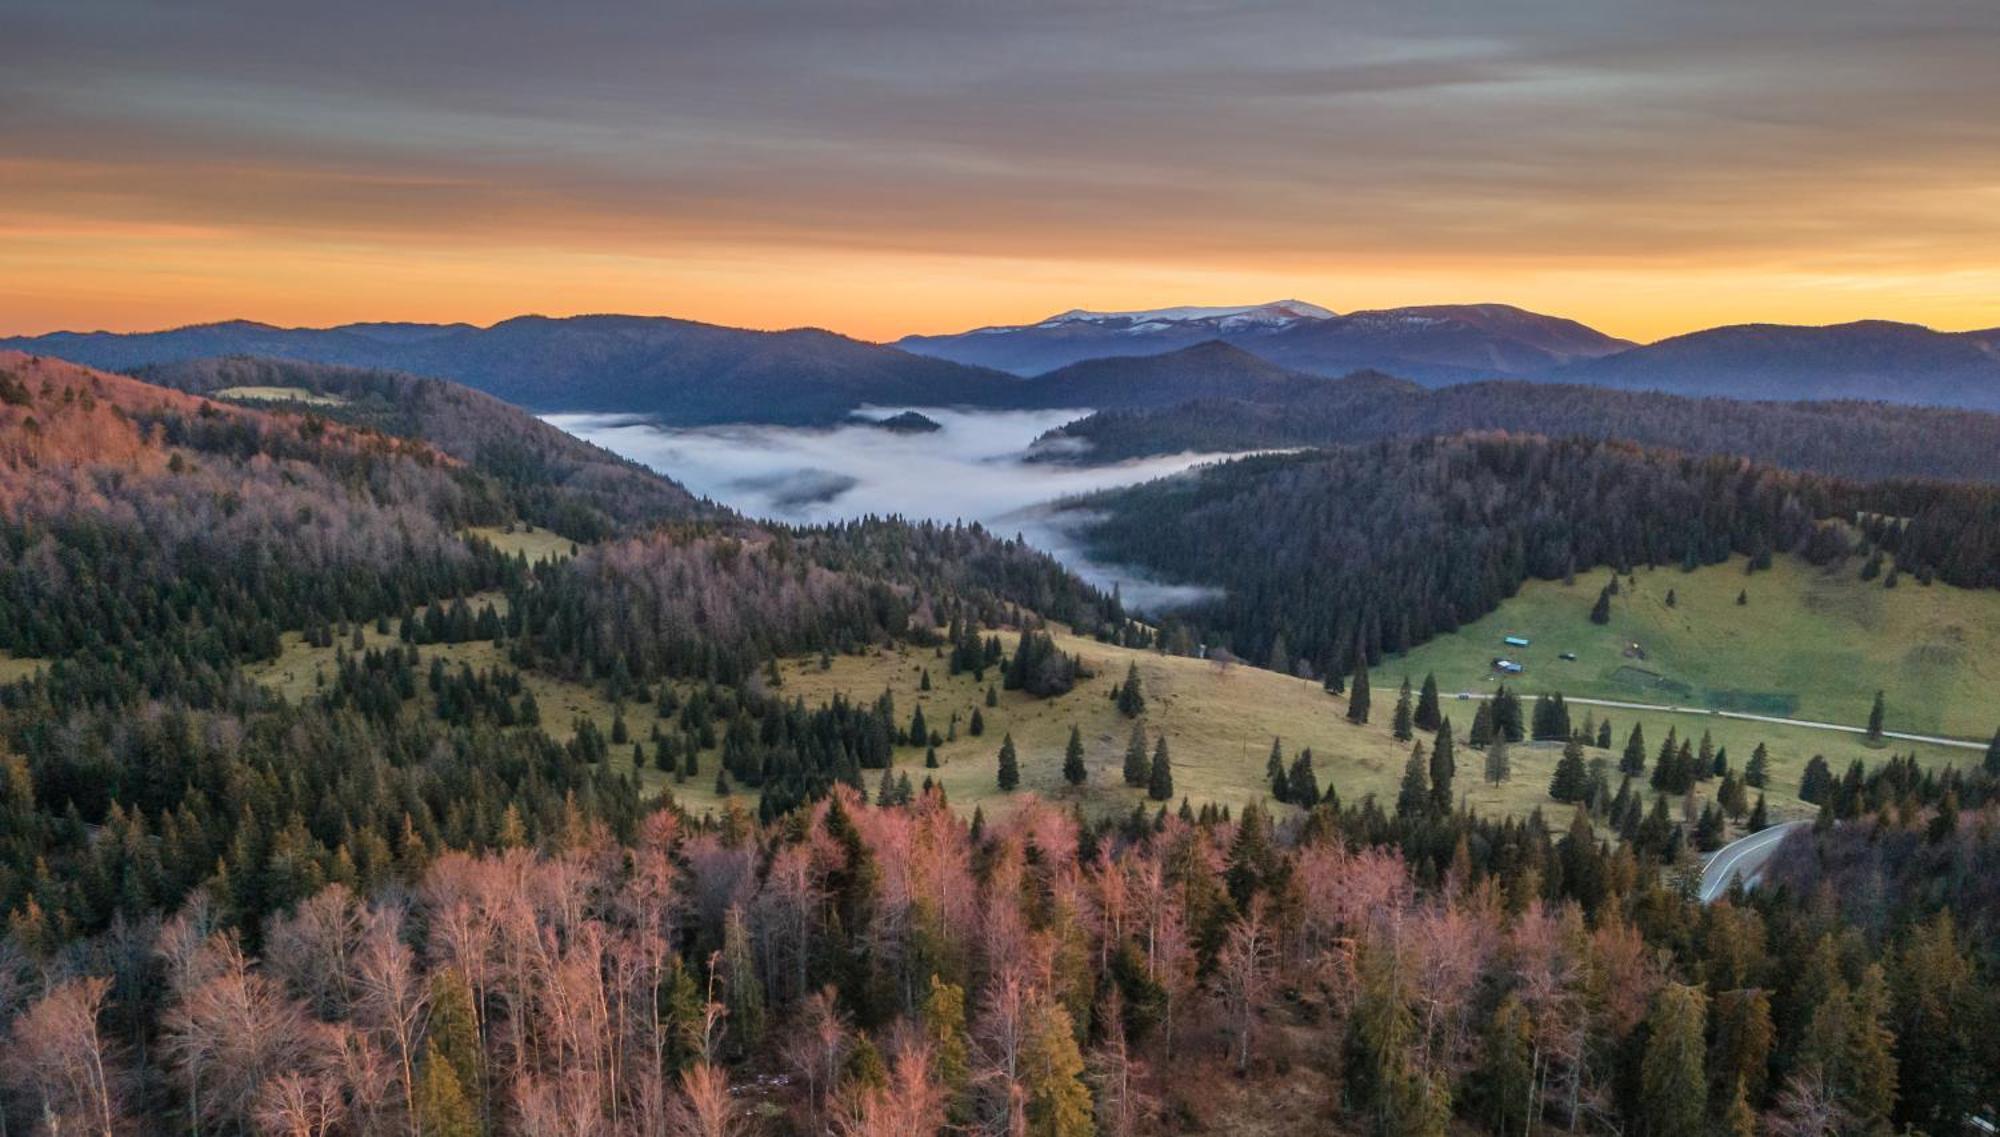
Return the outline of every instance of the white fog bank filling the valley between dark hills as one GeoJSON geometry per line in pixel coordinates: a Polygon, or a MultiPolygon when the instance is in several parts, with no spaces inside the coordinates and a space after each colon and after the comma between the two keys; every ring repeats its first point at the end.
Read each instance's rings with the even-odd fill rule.
{"type": "MultiPolygon", "coordinates": [[[[898,410],[904,408],[864,414],[886,418],[898,410]]],[[[550,414],[548,422],[750,516],[800,524],[868,514],[976,520],[1000,534],[1028,538],[1102,589],[1116,585],[1138,609],[1172,609],[1204,595],[1204,589],[1164,585],[1130,566],[1092,562],[1076,532],[1088,514],[1056,510],[1050,502],[1176,474],[1228,454],[1170,454],[1112,466],[1028,462],[1028,446],[1042,432],[1088,410],[914,410],[940,430],[898,434],[868,424],[666,428],[620,414],[550,414]]]]}

